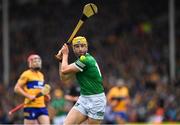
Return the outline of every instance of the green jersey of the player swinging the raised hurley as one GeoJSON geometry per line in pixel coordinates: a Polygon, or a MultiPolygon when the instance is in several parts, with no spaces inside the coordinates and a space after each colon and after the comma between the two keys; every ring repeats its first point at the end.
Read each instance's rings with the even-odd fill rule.
{"type": "Polygon", "coordinates": [[[76,79],[81,88],[81,95],[94,95],[104,92],[99,66],[90,54],[81,56],[74,64],[80,70],[76,73],[76,79]]]}

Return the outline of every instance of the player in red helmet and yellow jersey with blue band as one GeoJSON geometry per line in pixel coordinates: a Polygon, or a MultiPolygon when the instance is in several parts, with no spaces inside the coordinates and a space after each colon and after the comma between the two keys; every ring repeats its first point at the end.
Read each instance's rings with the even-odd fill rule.
{"type": "Polygon", "coordinates": [[[15,92],[25,97],[24,124],[50,124],[45,98],[50,96],[35,96],[44,87],[44,75],[40,72],[42,61],[39,55],[32,54],[28,57],[29,69],[24,71],[15,85],[15,92]],[[27,101],[33,100],[30,103],[27,101]]]}

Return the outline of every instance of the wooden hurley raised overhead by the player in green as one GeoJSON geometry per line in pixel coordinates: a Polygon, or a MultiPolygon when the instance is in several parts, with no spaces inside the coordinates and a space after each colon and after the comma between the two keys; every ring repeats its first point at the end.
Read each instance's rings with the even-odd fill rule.
{"type": "MultiPolygon", "coordinates": [[[[83,14],[78,22],[78,24],[76,25],[73,33],[71,34],[71,36],[69,37],[68,41],[66,42],[67,44],[71,44],[72,39],[74,38],[74,36],[76,35],[76,33],[78,32],[78,30],[81,28],[81,26],[83,25],[83,23],[90,18],[91,16],[95,15],[98,13],[98,8],[95,4],[93,3],[88,3],[84,6],[83,8],[83,14]]],[[[59,52],[57,55],[55,55],[55,57],[58,60],[61,60],[61,52],[59,52]]]]}

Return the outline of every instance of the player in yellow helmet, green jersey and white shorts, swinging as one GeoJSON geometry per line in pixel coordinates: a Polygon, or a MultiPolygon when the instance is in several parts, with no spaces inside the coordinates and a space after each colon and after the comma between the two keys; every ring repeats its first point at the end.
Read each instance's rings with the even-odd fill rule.
{"type": "Polygon", "coordinates": [[[69,49],[67,44],[59,50],[59,74],[62,80],[75,75],[80,85],[80,97],[68,113],[64,124],[101,124],[106,107],[106,96],[102,83],[102,75],[95,58],[87,53],[88,43],[85,37],[78,36],[72,40],[72,48],[78,59],[68,64],[69,49]]]}

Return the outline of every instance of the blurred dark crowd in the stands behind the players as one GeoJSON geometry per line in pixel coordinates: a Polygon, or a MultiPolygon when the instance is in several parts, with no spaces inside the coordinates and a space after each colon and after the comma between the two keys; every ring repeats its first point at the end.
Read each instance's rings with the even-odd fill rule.
{"type": "MultiPolygon", "coordinates": [[[[65,95],[76,83],[60,81],[54,55],[68,40],[89,2],[95,3],[99,12],[77,35],[89,41],[89,52],[102,71],[106,94],[118,86],[119,80],[128,90],[128,103],[122,107],[128,119],[109,119],[110,111],[103,123],[180,121],[178,0],[1,0],[1,124],[23,122],[22,111],[12,116],[7,113],[23,101],[13,88],[32,53],[42,57],[42,72],[53,88],[52,98],[63,100],[59,114],[54,109],[60,106],[54,106],[53,100],[47,103],[52,123],[54,118],[66,115],[74,102],[65,95]]],[[[71,53],[70,62],[73,60],[71,53]]],[[[112,109],[110,102],[107,109],[112,109]]]]}

